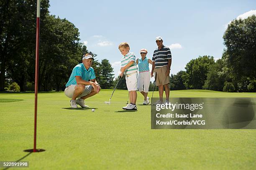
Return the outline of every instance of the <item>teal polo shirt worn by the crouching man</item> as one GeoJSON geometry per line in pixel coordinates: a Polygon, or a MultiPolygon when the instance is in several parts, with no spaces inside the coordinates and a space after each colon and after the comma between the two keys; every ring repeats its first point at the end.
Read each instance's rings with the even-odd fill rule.
{"type": "Polygon", "coordinates": [[[72,73],[69,77],[69,81],[66,84],[66,87],[69,85],[77,85],[77,80],[75,76],[81,76],[82,79],[85,81],[90,81],[96,78],[95,72],[92,67],[86,70],[84,64],[80,63],[73,68],[72,73]]]}

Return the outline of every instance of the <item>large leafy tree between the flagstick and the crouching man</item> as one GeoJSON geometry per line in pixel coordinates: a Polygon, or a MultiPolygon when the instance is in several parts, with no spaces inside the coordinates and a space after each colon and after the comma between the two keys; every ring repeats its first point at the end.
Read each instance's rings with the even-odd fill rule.
{"type": "Polygon", "coordinates": [[[66,19],[47,16],[42,24],[39,90],[60,90],[82,57],[79,30],[66,19]]]}

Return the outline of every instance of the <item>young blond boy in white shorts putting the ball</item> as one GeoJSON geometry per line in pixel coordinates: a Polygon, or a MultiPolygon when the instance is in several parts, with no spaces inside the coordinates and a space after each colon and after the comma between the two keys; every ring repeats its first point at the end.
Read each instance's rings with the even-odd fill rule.
{"type": "Polygon", "coordinates": [[[130,104],[123,107],[124,110],[137,110],[136,100],[137,100],[137,70],[136,67],[136,57],[133,52],[129,52],[130,46],[127,42],[122,42],[118,49],[123,55],[121,59],[121,73],[120,76],[125,75],[126,86],[130,96],[130,104]]]}

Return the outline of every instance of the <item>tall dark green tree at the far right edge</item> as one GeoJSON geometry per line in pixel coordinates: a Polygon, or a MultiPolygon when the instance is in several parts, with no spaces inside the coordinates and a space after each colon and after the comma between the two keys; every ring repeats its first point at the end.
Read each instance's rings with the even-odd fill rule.
{"type": "Polygon", "coordinates": [[[227,67],[239,81],[256,80],[256,16],[233,20],[223,35],[227,67]]]}

